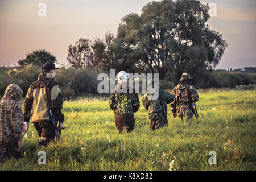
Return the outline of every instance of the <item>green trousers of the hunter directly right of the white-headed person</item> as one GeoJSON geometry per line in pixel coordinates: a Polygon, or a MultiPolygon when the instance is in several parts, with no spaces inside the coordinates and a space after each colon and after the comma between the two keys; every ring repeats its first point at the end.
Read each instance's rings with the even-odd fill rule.
{"type": "Polygon", "coordinates": [[[163,113],[150,113],[148,115],[151,130],[160,129],[166,125],[166,119],[164,118],[163,113]]]}

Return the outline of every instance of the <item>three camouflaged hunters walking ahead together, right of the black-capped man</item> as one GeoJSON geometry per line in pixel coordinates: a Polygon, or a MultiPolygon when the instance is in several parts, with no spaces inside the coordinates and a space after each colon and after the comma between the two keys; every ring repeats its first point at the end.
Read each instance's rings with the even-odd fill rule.
{"type": "MultiPolygon", "coordinates": [[[[128,73],[121,71],[117,74],[117,77],[118,84],[115,86],[114,93],[110,94],[109,105],[114,110],[115,126],[119,132],[123,130],[129,132],[134,129],[134,113],[139,109],[139,98],[137,93],[134,92],[135,90],[128,83],[128,73]],[[129,92],[129,89],[133,89],[133,92],[129,92]]],[[[183,73],[179,84],[174,88],[172,94],[159,88],[158,82],[155,84],[154,79],[148,81],[147,90],[142,98],[142,102],[144,108],[148,110],[151,130],[160,129],[167,124],[167,104],[170,104],[174,118],[176,115],[181,120],[186,118],[189,121],[193,118],[195,110],[191,102],[197,102],[199,96],[196,88],[191,85],[192,79],[189,73],[183,73]],[[158,96],[154,97],[156,93],[158,93],[158,96]]]]}

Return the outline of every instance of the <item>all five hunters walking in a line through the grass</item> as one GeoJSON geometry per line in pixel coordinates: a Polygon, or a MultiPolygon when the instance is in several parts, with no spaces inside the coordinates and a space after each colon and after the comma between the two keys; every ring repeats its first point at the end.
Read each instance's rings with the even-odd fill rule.
{"type": "MultiPolygon", "coordinates": [[[[64,128],[64,114],[61,111],[63,98],[55,80],[56,69],[59,68],[55,68],[53,63],[43,65],[45,75],[40,73],[38,80],[30,85],[24,100],[23,112],[19,102],[23,94],[22,89],[16,84],[7,86],[5,95],[0,101],[0,162],[22,156],[23,132],[28,131],[31,117],[39,135],[38,147],[46,146],[55,139],[56,126],[53,126],[50,114],[55,118],[55,125],[59,123],[59,130],[64,128]],[[46,88],[49,89],[49,98],[47,98],[46,88]],[[48,103],[52,113],[49,111],[48,103]]],[[[139,110],[140,101],[134,88],[128,84],[129,74],[121,71],[117,77],[118,84],[110,94],[109,106],[114,110],[115,126],[119,132],[130,132],[135,126],[134,113],[139,110]]],[[[148,81],[142,102],[144,108],[148,110],[151,130],[160,129],[166,125],[167,104],[171,104],[174,117],[178,115],[181,119],[192,119],[195,111],[191,107],[191,98],[196,102],[199,97],[197,90],[191,85],[191,80],[189,73],[183,73],[172,94],[159,86],[155,88],[155,80],[148,81]],[[161,97],[152,99],[156,92],[161,97]]]]}

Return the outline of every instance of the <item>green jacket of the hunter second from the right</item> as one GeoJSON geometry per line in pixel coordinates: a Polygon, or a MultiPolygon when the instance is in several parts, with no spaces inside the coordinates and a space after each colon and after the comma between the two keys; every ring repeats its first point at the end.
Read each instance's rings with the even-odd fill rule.
{"type": "MultiPolygon", "coordinates": [[[[162,111],[159,97],[155,100],[148,99],[148,96],[154,95],[154,92],[148,93],[149,90],[152,90],[152,88],[148,88],[142,98],[142,103],[143,103],[145,109],[148,110],[148,114],[162,113],[163,111],[162,111]]],[[[163,89],[160,89],[160,92],[161,92],[161,96],[162,96],[162,100],[163,100],[164,109],[166,110],[166,114],[167,114],[167,104],[169,104],[170,102],[172,102],[174,100],[174,96],[172,94],[170,94],[169,92],[164,91],[163,89]]]]}

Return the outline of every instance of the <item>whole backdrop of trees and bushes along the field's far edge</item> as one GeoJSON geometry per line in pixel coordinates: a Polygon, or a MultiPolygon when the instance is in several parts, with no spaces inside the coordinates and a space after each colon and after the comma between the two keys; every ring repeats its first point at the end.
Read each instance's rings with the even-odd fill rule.
{"type": "MultiPolygon", "coordinates": [[[[172,89],[183,72],[191,74],[196,88],[254,84],[255,76],[214,71],[228,43],[209,27],[209,6],[196,0],[152,1],[141,14],[131,13],[119,23],[117,35],[104,39],[80,38],[68,46],[71,68],[61,68],[57,79],[65,97],[97,93],[97,74],[121,70],[128,73],[159,73],[163,88],[172,89]]],[[[56,63],[56,57],[42,49],[26,54],[19,68],[1,75],[0,92],[8,82],[27,85],[40,73],[40,61],[56,63]]],[[[1,70],[0,70],[1,71],[1,70]]]]}

